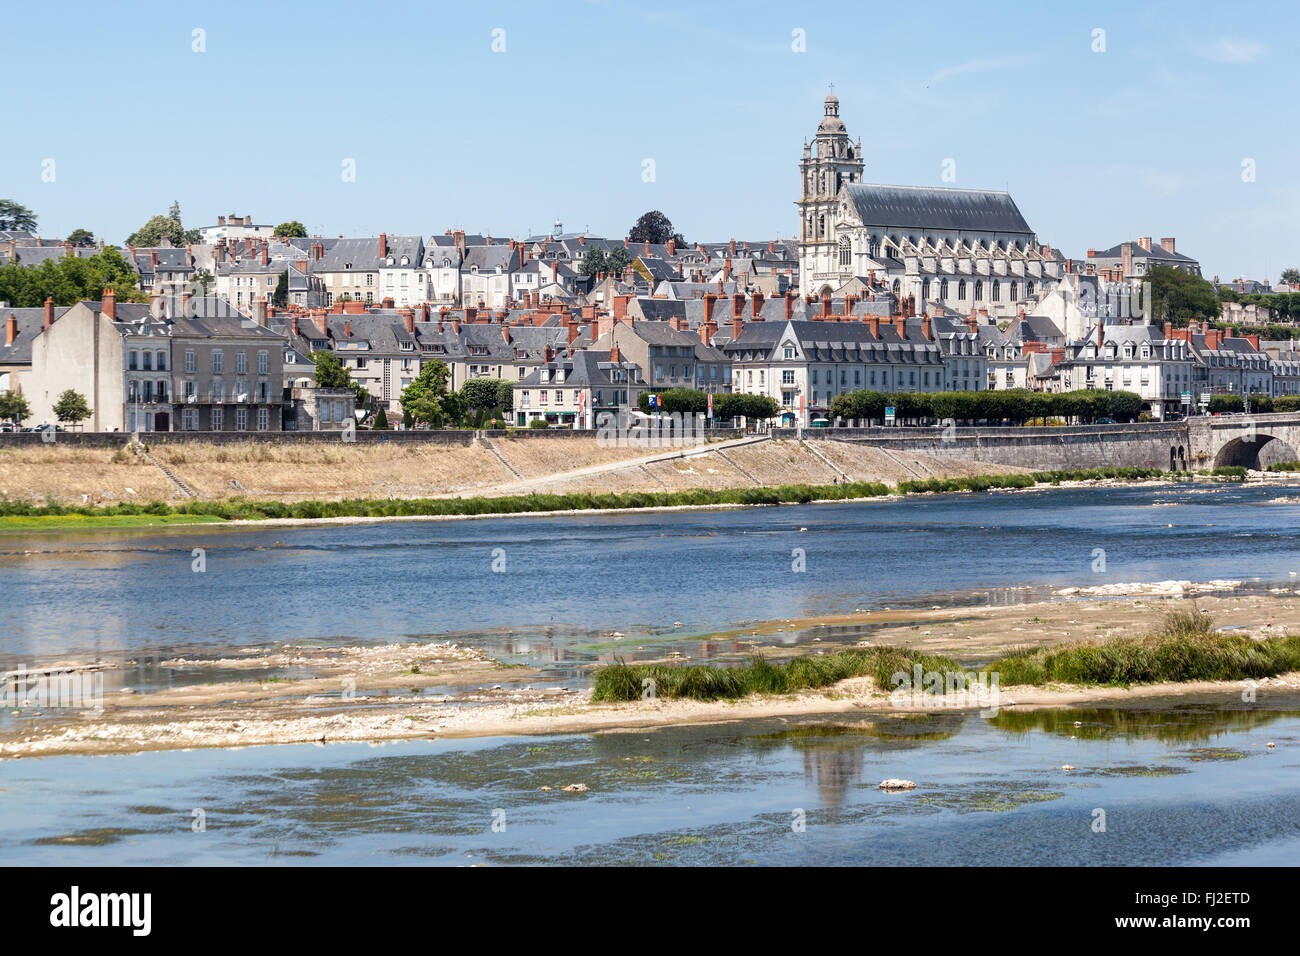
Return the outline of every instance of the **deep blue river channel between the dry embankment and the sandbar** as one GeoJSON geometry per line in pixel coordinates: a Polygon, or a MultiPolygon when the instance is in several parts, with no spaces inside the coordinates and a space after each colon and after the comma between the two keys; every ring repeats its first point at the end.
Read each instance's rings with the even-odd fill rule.
{"type": "Polygon", "coordinates": [[[447,635],[494,653],[581,658],[610,631],[634,640],[1017,600],[1001,592],[1009,588],[1290,587],[1300,571],[1297,496],[1300,485],[1044,488],[727,511],[4,536],[0,665],[447,635]],[[192,570],[194,549],[203,572],[192,570]]]}

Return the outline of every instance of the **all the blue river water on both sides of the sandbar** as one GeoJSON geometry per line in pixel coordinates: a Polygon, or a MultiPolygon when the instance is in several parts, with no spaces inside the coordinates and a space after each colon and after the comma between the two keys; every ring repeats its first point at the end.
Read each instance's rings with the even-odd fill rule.
{"type": "MultiPolygon", "coordinates": [[[[1292,589],[1297,492],[1040,489],[744,511],[8,536],[0,654],[38,665],[454,635],[563,671],[597,656],[614,630],[650,645],[742,622],[1119,581],[1292,589]],[[203,572],[192,570],[196,548],[203,572]]],[[[841,714],[44,757],[0,765],[0,860],[1291,864],[1297,747],[1300,700],[1268,693],[1251,705],[1004,709],[992,719],[841,714]],[[918,788],[876,790],[888,777],[918,788]],[[590,790],[563,792],[569,783],[590,790]]]]}

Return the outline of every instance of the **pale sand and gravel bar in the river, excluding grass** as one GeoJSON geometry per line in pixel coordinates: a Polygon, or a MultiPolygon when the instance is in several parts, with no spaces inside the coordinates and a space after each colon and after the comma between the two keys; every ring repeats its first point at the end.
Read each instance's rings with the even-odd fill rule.
{"type": "MultiPolygon", "coordinates": [[[[1214,592],[1171,583],[1128,585],[1126,596],[1078,597],[1000,606],[863,610],[810,619],[772,620],[727,632],[682,639],[666,662],[690,665],[707,649],[711,661],[753,653],[785,658],[870,644],[900,646],[956,658],[968,670],[1017,648],[1132,636],[1150,630],[1165,609],[1195,605],[1221,628],[1253,637],[1300,632],[1300,593],[1214,592]],[[1184,594],[1171,597],[1170,594],[1184,594]],[[1188,594],[1196,594],[1195,597],[1188,594]],[[824,631],[826,639],[818,635],[824,631]],[[842,637],[849,631],[849,637],[842,637]],[[801,644],[783,641],[792,632],[801,644]],[[861,637],[859,635],[866,635],[861,637]],[[810,636],[811,635],[811,636],[810,636]]],[[[1124,588],[1108,585],[1110,593],[1124,588]]],[[[621,645],[620,645],[621,646],[621,645]]],[[[636,650],[627,646],[624,653],[636,650]]],[[[612,659],[612,652],[608,659],[612,659]]],[[[836,713],[904,713],[914,709],[968,708],[956,697],[897,704],[890,688],[870,678],[796,695],[738,701],[645,700],[593,704],[586,689],[552,675],[504,666],[482,652],[454,643],[380,646],[283,646],[229,658],[162,661],[165,667],[211,669],[212,682],[148,692],[108,689],[95,709],[49,709],[40,702],[10,705],[0,724],[0,758],[52,754],[130,753],[196,747],[285,743],[381,741],[421,736],[499,736],[619,731],[637,727],[714,723],[757,717],[836,713]],[[250,676],[242,679],[239,672],[250,676]],[[265,678],[266,671],[291,678],[265,678]],[[30,719],[29,719],[30,718],[30,719]]],[[[96,666],[65,662],[73,672],[96,666]]],[[[597,665],[592,665],[597,666],[597,665]]],[[[100,665],[101,667],[101,665],[100,665]]],[[[1118,687],[1002,687],[1000,708],[1175,706],[1191,700],[1239,704],[1247,682],[1118,687]]],[[[1260,680],[1261,702],[1291,697],[1300,702],[1300,672],[1260,680]]]]}

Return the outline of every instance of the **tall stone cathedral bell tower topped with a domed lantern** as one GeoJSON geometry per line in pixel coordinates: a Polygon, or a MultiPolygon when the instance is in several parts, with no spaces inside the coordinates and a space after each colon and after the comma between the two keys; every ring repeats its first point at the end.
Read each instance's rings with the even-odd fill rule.
{"type": "MultiPolygon", "coordinates": [[[[840,187],[862,182],[862,139],[849,139],[840,118],[840,100],[831,94],[823,104],[826,116],[816,127],[810,146],[803,140],[800,161],[800,285],[806,295],[824,282],[837,285],[840,255],[836,241],[836,216],[840,187]]],[[[852,267],[845,267],[852,273],[852,267]]],[[[844,276],[848,278],[848,276],[844,276]]]]}

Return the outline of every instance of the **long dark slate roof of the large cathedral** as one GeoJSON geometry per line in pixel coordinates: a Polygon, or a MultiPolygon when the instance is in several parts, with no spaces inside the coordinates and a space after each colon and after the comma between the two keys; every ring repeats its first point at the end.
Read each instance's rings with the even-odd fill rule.
{"type": "Polygon", "coordinates": [[[1009,193],[858,182],[845,189],[868,226],[1034,234],[1009,193]]]}

